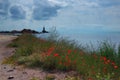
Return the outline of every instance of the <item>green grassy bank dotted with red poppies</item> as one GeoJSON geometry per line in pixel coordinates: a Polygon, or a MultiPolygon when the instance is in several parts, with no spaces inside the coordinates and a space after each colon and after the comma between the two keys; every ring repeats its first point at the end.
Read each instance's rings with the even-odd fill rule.
{"type": "Polygon", "coordinates": [[[88,53],[82,46],[64,38],[38,39],[31,34],[23,34],[9,46],[16,47],[16,52],[4,61],[6,63],[45,70],[74,70],[84,80],[120,78],[120,47],[116,51],[113,45],[107,42],[101,43],[94,53],[88,53]]]}

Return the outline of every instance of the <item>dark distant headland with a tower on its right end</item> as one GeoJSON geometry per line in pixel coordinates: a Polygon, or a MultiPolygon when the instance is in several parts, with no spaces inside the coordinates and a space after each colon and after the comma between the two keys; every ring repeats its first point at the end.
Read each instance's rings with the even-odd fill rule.
{"type": "Polygon", "coordinates": [[[31,29],[23,29],[23,30],[12,30],[12,31],[0,31],[0,33],[32,33],[32,34],[42,34],[42,33],[49,33],[48,31],[45,30],[45,27],[43,27],[43,30],[41,32],[35,31],[35,30],[31,30],[31,29]]]}

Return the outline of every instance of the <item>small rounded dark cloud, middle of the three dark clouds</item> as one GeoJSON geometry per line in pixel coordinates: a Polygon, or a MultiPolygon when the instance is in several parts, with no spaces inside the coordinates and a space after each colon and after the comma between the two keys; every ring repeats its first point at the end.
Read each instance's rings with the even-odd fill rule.
{"type": "Polygon", "coordinates": [[[25,19],[26,12],[21,6],[12,6],[10,8],[10,14],[12,19],[25,19]]]}

